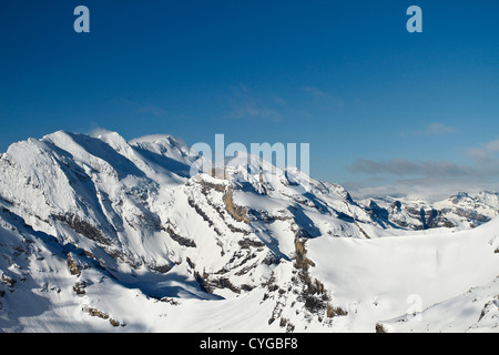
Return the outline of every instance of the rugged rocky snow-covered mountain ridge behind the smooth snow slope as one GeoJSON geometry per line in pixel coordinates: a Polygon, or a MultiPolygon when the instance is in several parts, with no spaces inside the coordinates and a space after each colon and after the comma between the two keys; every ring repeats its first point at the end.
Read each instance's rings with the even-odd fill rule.
{"type": "Polygon", "coordinates": [[[498,212],[497,200],[485,193],[436,207],[417,202],[419,210],[400,202],[390,211],[384,201],[356,202],[340,185],[262,160],[191,176],[197,159],[171,135],[128,142],[115,132],[94,138],[59,131],[12,144],[0,155],[1,328],[57,328],[50,315],[71,329],[141,329],[144,318],[134,323],[120,300],[150,312],[160,328],[165,310],[171,320],[182,312],[195,318],[192,310],[206,302],[214,310],[220,302],[241,310],[247,300],[248,310],[261,314],[255,328],[336,328],[338,318],[353,315],[345,301],[337,303],[339,286],[320,271],[327,262],[317,263],[324,257],[314,245],[471,233],[466,230],[490,223],[498,212]],[[480,213],[466,213],[477,203],[480,213]],[[438,222],[421,214],[430,210],[440,211],[438,222]],[[33,314],[22,316],[14,293],[38,300],[33,314]]]}

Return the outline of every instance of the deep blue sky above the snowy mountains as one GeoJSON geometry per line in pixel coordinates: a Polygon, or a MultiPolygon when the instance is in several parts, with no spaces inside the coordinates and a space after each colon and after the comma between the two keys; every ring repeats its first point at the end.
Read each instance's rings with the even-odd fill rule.
{"type": "Polygon", "coordinates": [[[498,13],[486,0],[10,1],[0,151],[57,130],[224,133],[309,143],[312,175],[354,191],[496,189],[498,13]],[[73,31],[79,4],[90,33],[73,31]],[[406,30],[413,4],[422,33],[406,30]]]}

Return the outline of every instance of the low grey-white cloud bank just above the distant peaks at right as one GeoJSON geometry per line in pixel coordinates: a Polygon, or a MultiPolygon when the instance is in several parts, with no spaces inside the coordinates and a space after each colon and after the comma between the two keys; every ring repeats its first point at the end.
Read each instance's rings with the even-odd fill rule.
{"type": "Polygon", "coordinates": [[[367,175],[361,182],[347,183],[358,197],[386,194],[436,197],[458,191],[497,191],[499,139],[466,150],[462,163],[406,159],[373,161],[359,158],[348,169],[353,173],[367,175]],[[376,176],[386,180],[373,183],[371,179],[376,176]]]}

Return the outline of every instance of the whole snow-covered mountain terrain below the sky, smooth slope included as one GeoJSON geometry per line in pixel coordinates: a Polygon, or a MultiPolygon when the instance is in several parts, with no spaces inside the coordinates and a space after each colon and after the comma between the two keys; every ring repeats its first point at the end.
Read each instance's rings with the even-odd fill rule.
{"type": "Polygon", "coordinates": [[[416,300],[428,329],[449,329],[441,314],[469,301],[446,324],[497,331],[497,194],[357,203],[262,160],[191,176],[197,159],[169,135],[12,144],[0,329],[408,331],[397,325],[416,300]]]}

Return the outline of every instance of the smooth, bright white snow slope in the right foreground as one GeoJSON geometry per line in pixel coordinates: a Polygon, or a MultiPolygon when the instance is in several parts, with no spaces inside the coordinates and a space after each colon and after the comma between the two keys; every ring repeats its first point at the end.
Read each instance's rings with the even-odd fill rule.
{"type": "MultiPolygon", "coordinates": [[[[377,321],[413,315],[472,287],[488,285],[499,275],[499,255],[495,253],[498,235],[496,219],[476,230],[441,235],[369,241],[322,237],[307,245],[309,257],[317,264],[313,275],[333,291],[339,306],[349,310],[352,320],[344,321],[347,329],[369,332],[377,321]],[[360,313],[363,316],[357,316],[360,313]]],[[[488,296],[497,297],[497,283],[488,291],[488,296]]],[[[440,307],[450,315],[461,312],[451,303],[440,307]]],[[[413,321],[411,326],[417,323],[421,326],[414,329],[425,331],[427,324],[448,320],[450,324],[456,322],[456,329],[466,331],[478,321],[480,311],[452,321],[422,312],[421,321],[413,321]]]]}

